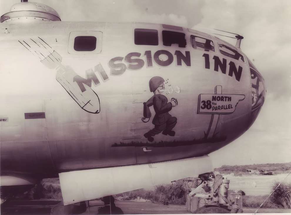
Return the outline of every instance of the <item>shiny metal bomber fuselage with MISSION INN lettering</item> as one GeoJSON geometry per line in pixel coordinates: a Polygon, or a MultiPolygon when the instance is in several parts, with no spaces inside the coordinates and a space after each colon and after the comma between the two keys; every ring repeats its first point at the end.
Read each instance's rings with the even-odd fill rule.
{"type": "Polygon", "coordinates": [[[63,21],[1,28],[9,31],[0,35],[1,176],[203,156],[243,134],[265,96],[240,49],[192,29],[63,21]],[[160,78],[164,97],[150,89],[163,87],[160,78]],[[142,120],[152,97],[151,118],[142,120]]]}

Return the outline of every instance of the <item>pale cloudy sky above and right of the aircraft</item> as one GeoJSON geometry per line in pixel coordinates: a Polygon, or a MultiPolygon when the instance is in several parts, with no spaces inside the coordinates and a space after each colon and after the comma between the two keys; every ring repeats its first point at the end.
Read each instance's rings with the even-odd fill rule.
{"type": "MultiPolygon", "coordinates": [[[[241,49],[264,77],[267,96],[252,127],[210,154],[213,167],[291,162],[291,1],[35,1],[51,6],[62,21],[152,22],[244,36],[241,49]]],[[[18,2],[0,0],[0,14],[18,2]]],[[[235,44],[234,39],[220,38],[235,44]]]]}

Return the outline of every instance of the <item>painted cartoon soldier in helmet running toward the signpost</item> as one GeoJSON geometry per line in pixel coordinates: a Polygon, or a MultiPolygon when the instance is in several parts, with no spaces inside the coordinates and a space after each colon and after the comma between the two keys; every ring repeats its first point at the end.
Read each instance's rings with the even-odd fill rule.
{"type": "MultiPolygon", "coordinates": [[[[148,141],[153,142],[153,136],[156,134],[160,134],[162,131],[164,135],[175,136],[175,131],[172,129],[177,124],[177,118],[172,117],[169,114],[169,111],[172,110],[172,107],[178,105],[177,99],[172,98],[171,102],[168,102],[166,96],[162,95],[163,91],[165,90],[164,85],[165,80],[162,77],[155,76],[150,79],[149,86],[150,91],[154,93],[154,95],[147,101],[144,102],[144,117],[150,118],[150,109],[149,107],[153,105],[155,109],[155,116],[153,118],[152,123],[155,125],[155,128],[145,133],[145,136],[148,141]]],[[[144,119],[142,119],[143,122],[144,119]]]]}

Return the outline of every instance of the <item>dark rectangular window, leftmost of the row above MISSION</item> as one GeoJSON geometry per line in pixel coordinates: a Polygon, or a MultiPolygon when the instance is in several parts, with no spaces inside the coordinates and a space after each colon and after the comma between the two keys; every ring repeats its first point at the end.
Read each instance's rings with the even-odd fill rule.
{"type": "Polygon", "coordinates": [[[134,44],[157,46],[158,30],[155,29],[134,29],[134,44]]]}

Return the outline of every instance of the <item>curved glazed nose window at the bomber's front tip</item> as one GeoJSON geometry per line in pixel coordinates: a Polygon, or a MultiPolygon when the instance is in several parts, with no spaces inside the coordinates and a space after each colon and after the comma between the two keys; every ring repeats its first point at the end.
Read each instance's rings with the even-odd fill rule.
{"type": "Polygon", "coordinates": [[[265,82],[260,73],[250,68],[252,82],[252,109],[256,109],[265,101],[266,89],[265,82]]]}

